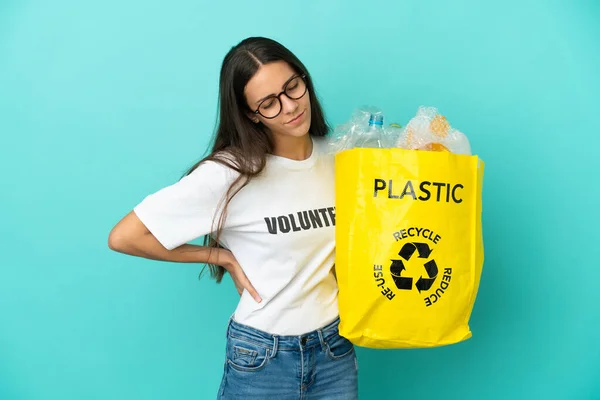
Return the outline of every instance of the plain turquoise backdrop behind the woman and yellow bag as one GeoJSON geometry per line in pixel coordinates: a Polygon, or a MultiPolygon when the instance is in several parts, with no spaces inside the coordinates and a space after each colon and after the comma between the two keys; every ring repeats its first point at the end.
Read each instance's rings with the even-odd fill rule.
{"type": "Polygon", "coordinates": [[[110,252],[198,160],[218,71],[283,42],[332,124],[432,105],[486,161],[472,339],[359,349],[363,399],[600,398],[597,1],[0,2],[0,398],[210,399],[230,280],[110,252]]]}

